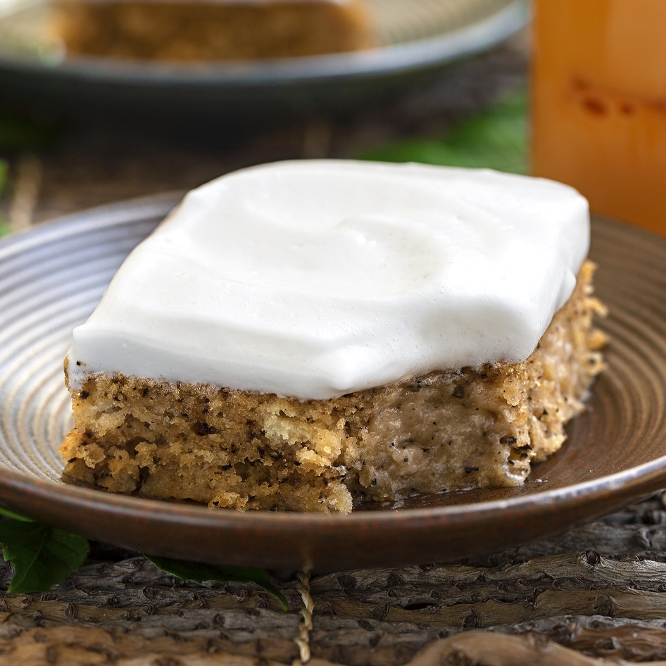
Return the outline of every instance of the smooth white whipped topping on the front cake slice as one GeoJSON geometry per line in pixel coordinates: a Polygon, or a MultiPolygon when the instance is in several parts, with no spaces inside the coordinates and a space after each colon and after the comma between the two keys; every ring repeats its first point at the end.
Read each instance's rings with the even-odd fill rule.
{"type": "MultiPolygon", "coordinates": [[[[191,191],[74,331],[123,375],[322,399],[518,363],[569,298],[586,200],[489,170],[296,161],[191,191]]],[[[81,365],[76,365],[80,361],[81,365]]]]}

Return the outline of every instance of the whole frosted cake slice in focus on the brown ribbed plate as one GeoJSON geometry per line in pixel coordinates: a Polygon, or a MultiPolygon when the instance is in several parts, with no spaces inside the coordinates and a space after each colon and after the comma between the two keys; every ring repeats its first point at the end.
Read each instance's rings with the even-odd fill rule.
{"type": "Polygon", "coordinates": [[[192,191],[65,359],[65,479],[348,513],[524,482],[603,363],[586,201],[486,170],[262,165],[192,191]]]}

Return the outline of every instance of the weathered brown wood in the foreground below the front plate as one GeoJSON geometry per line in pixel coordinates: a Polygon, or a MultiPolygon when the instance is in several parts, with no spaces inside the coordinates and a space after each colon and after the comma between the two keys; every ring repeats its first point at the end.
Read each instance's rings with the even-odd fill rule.
{"type": "MultiPolygon", "coordinates": [[[[311,663],[666,661],[665,541],[666,511],[653,498],[475,561],[315,573],[311,663]]],[[[283,612],[251,586],[182,582],[139,556],[95,552],[104,559],[48,594],[0,594],[0,665],[240,666],[299,658],[296,574],[275,577],[289,601],[283,612]]],[[[2,565],[5,589],[10,574],[2,565]]]]}

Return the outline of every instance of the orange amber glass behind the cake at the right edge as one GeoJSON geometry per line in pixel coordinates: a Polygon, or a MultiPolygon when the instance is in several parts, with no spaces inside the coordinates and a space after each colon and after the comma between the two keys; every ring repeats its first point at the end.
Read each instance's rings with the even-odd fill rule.
{"type": "Polygon", "coordinates": [[[532,172],[666,235],[666,0],[534,0],[532,172]]]}

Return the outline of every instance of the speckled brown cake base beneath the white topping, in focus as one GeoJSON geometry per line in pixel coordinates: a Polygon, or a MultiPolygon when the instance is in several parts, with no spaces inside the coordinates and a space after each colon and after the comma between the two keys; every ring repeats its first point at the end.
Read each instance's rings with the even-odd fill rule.
{"type": "Polygon", "coordinates": [[[340,513],[364,500],[520,485],[562,446],[603,368],[592,274],[586,262],[523,363],[321,401],[91,375],[73,391],[63,478],[213,508],[340,513]]]}

